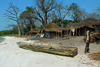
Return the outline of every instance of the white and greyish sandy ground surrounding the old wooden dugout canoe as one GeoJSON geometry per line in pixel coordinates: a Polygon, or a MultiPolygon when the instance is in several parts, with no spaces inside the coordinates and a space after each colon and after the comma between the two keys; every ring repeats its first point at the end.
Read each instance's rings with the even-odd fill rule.
{"type": "MultiPolygon", "coordinates": [[[[58,42],[57,40],[55,40],[56,42],[48,42],[50,44],[53,44],[54,42],[55,44],[62,46],[78,46],[79,54],[74,58],[71,58],[25,50],[19,48],[16,44],[16,42],[25,41],[25,38],[5,37],[5,41],[0,43],[0,67],[100,67],[99,61],[90,60],[87,54],[84,54],[83,49],[85,43],[80,40],[80,38],[75,37],[68,39],[67,41],[63,40],[62,43],[60,40],[58,40],[58,42]],[[79,39],[79,41],[77,39],[79,39]]],[[[100,44],[91,44],[90,52],[95,52],[94,50],[98,48],[100,50],[99,46],[100,44]]]]}

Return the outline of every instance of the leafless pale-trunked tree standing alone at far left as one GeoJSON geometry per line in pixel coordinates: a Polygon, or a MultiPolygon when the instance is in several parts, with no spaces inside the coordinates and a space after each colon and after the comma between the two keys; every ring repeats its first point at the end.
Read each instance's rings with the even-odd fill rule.
{"type": "Polygon", "coordinates": [[[19,22],[19,18],[18,18],[18,13],[20,11],[21,11],[20,8],[14,6],[13,3],[10,3],[9,8],[6,10],[6,13],[4,14],[4,16],[7,17],[7,19],[13,20],[17,23],[19,36],[21,36],[20,22],[19,22]]]}

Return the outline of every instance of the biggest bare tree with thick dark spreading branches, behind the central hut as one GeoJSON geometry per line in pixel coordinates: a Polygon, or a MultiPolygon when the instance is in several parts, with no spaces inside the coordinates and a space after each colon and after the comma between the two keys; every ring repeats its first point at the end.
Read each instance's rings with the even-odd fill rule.
{"type": "Polygon", "coordinates": [[[35,3],[36,7],[33,18],[39,20],[43,27],[45,27],[50,16],[49,12],[56,7],[56,0],[35,0],[35,3]]]}

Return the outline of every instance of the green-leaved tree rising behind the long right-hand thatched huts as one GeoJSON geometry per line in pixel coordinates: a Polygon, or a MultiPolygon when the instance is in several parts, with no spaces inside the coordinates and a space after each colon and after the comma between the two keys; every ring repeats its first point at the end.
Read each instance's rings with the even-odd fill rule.
{"type": "Polygon", "coordinates": [[[69,16],[74,20],[74,22],[78,22],[80,20],[80,16],[82,15],[82,11],[76,3],[72,3],[69,10],[69,16]]]}

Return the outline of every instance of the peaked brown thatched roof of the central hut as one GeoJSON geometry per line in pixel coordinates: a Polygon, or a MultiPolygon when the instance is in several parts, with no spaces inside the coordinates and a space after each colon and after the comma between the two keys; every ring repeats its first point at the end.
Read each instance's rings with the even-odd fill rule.
{"type": "Polygon", "coordinates": [[[56,32],[62,32],[62,27],[58,26],[54,22],[51,22],[48,24],[43,30],[45,31],[56,31],[56,32]]]}

